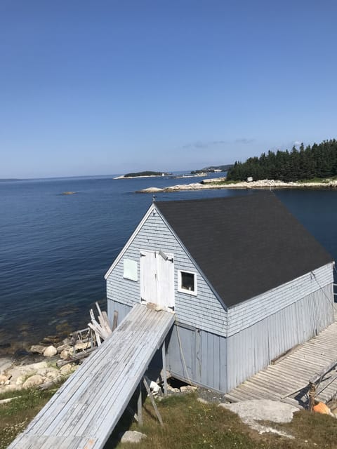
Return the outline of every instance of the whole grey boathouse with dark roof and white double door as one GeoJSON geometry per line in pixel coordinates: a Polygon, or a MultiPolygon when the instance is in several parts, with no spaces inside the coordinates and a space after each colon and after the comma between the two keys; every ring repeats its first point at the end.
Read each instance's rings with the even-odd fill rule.
{"type": "Polygon", "coordinates": [[[272,192],[154,202],[107,274],[107,311],[175,312],[173,377],[227,392],[333,322],[333,260],[272,192]]]}

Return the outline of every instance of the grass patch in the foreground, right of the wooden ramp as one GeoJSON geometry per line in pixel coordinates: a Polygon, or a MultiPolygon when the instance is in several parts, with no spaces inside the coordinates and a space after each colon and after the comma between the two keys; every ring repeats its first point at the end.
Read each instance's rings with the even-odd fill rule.
{"type": "Polygon", "coordinates": [[[258,434],[242,423],[237,415],[216,404],[203,404],[194,394],[170,397],[157,403],[164,427],[156,420],[150,401],[143,408],[144,425],[130,425],[124,415],[105,449],[134,449],[131,443],[118,443],[126,429],[142,431],[147,438],[137,449],[333,449],[337,448],[337,420],[308,411],[295,413],[289,424],[268,423],[295,438],[275,434],[258,434]],[[129,424],[127,424],[127,422],[129,424]]]}

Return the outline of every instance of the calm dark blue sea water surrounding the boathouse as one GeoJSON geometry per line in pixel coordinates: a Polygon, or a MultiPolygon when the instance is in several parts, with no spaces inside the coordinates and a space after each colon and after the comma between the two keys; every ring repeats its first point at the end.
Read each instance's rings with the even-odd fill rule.
{"type": "MultiPolygon", "coordinates": [[[[112,177],[0,182],[0,346],[38,342],[84,328],[105,297],[104,274],[152,201],[135,191],[192,179],[112,177]],[[62,192],[77,192],[62,195],[62,192]]],[[[251,194],[209,190],[157,194],[157,200],[251,194]]],[[[276,192],[337,257],[337,192],[276,192]]],[[[104,300],[102,304],[105,304],[104,300]]]]}

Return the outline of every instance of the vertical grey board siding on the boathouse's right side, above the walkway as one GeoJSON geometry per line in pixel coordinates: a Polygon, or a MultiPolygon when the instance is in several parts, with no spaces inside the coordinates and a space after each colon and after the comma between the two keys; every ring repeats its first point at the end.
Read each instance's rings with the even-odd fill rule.
{"type": "Polygon", "coordinates": [[[228,337],[228,390],[329,326],[333,322],[332,298],[330,283],[228,337]]]}

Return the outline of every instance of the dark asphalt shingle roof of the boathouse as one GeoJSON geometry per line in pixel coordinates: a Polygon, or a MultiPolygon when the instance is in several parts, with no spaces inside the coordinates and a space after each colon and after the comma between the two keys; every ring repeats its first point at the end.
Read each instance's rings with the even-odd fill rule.
{"type": "Polygon", "coordinates": [[[333,260],[272,192],[156,206],[227,307],[333,260]]]}

